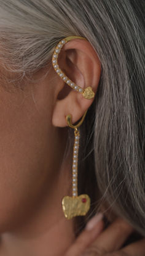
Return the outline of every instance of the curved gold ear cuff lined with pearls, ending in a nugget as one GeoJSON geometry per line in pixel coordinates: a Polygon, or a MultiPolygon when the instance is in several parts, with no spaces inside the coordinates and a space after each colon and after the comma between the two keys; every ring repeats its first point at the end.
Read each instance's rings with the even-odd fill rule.
{"type": "Polygon", "coordinates": [[[60,69],[57,59],[58,59],[58,54],[60,53],[62,47],[68,43],[68,41],[72,40],[72,39],[85,39],[86,38],[82,37],[82,36],[68,36],[64,39],[62,39],[57,46],[55,47],[55,50],[53,52],[53,56],[52,56],[52,64],[53,64],[53,68],[55,69],[55,71],[58,73],[58,75],[60,76],[60,78],[63,79],[63,81],[65,81],[65,83],[67,83],[72,89],[74,89],[75,91],[78,91],[79,93],[82,93],[82,95],[85,97],[85,99],[92,99],[95,96],[95,93],[92,91],[92,87],[88,86],[85,89],[82,89],[80,86],[76,85],[74,82],[72,82],[68,76],[65,75],[65,73],[62,72],[62,70],[60,69]]]}

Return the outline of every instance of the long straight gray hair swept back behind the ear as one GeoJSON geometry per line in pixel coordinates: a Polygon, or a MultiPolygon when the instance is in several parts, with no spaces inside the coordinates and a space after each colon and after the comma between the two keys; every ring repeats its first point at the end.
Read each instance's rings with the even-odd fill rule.
{"type": "Polygon", "coordinates": [[[92,210],[106,202],[143,236],[144,10],[144,0],[1,0],[0,4],[0,58],[4,68],[18,74],[15,81],[51,65],[53,47],[66,36],[84,36],[94,47],[101,78],[80,127],[79,189],[93,197],[92,210]],[[101,194],[97,202],[96,187],[101,194]]]}

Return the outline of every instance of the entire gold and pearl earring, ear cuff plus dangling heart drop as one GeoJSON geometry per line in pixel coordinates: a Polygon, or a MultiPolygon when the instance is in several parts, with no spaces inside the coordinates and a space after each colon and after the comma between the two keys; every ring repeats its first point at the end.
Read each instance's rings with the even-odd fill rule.
{"type": "MultiPolygon", "coordinates": [[[[75,91],[78,91],[79,93],[82,93],[85,99],[92,99],[95,96],[95,93],[93,93],[92,91],[92,87],[88,86],[87,88],[82,89],[80,86],[76,85],[73,81],[71,81],[68,78],[68,76],[65,75],[65,73],[61,71],[57,63],[58,54],[60,53],[61,48],[66,43],[68,43],[68,41],[76,38],[86,39],[86,38],[83,38],[82,36],[68,36],[62,39],[57,44],[52,56],[53,68],[58,73],[60,78],[62,78],[63,81],[65,81],[65,83],[71,86],[72,89],[74,89],[75,91]]],[[[78,128],[84,121],[86,114],[87,114],[87,110],[85,111],[85,114],[83,115],[82,119],[77,125],[72,125],[71,114],[68,114],[66,116],[67,124],[69,125],[69,127],[74,128],[74,150],[73,150],[73,160],[72,160],[72,197],[65,196],[63,197],[63,200],[61,202],[63,207],[63,212],[67,219],[71,219],[72,217],[75,217],[75,216],[86,215],[86,213],[90,209],[90,197],[87,194],[81,194],[80,196],[78,196],[77,194],[77,161],[78,161],[79,138],[80,138],[80,133],[78,128]]]]}

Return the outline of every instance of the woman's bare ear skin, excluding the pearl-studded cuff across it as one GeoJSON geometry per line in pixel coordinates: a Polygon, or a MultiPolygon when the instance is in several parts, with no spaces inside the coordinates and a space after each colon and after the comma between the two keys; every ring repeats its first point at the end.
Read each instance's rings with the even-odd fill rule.
{"type": "MultiPolygon", "coordinates": [[[[96,94],[101,75],[101,63],[95,49],[87,40],[68,41],[58,55],[58,65],[76,85],[81,88],[91,86],[96,94]]],[[[56,76],[58,76],[57,73],[56,76]]],[[[59,81],[60,90],[53,107],[52,125],[65,127],[67,126],[66,115],[71,114],[72,123],[76,123],[90,107],[94,98],[85,99],[82,93],[72,89],[61,78],[59,81]]]]}

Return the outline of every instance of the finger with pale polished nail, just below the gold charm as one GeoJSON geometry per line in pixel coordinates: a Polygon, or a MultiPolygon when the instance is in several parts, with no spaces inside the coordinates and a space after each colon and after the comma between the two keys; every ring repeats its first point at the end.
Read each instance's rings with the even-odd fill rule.
{"type": "Polygon", "coordinates": [[[101,231],[103,231],[104,222],[102,218],[103,214],[98,213],[98,215],[88,222],[90,225],[88,225],[87,229],[82,231],[80,236],[77,237],[76,241],[66,252],[65,256],[80,256],[85,249],[95,241],[96,237],[101,233],[101,231]],[[92,226],[93,223],[94,226],[92,226]]]}

